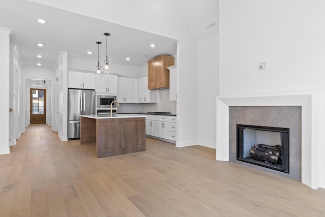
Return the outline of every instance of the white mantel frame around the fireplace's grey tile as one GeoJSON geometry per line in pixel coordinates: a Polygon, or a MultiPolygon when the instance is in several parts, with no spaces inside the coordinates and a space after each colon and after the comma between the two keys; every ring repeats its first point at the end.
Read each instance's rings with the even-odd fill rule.
{"type": "Polygon", "coordinates": [[[319,188],[319,91],[216,98],[216,160],[229,161],[229,106],[301,106],[301,182],[319,188]],[[313,129],[313,131],[311,130],[313,129]]]}

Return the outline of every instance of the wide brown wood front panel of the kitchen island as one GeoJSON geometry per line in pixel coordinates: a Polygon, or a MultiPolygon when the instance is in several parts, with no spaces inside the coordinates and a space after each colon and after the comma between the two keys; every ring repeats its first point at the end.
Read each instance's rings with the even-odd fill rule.
{"type": "Polygon", "coordinates": [[[145,150],[145,117],[109,118],[96,121],[98,158],[145,150]]]}

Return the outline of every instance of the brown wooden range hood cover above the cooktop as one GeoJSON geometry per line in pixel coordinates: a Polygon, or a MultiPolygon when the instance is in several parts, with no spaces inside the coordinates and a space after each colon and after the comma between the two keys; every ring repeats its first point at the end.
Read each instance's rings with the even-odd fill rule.
{"type": "Polygon", "coordinates": [[[148,61],[148,89],[169,88],[169,70],[175,64],[173,56],[161,55],[148,61]]]}

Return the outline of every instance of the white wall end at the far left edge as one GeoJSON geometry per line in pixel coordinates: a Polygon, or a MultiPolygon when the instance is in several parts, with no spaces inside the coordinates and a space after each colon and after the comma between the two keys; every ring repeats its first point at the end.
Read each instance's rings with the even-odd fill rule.
{"type": "Polygon", "coordinates": [[[0,154],[10,153],[9,149],[9,36],[11,29],[0,27],[0,154]]]}

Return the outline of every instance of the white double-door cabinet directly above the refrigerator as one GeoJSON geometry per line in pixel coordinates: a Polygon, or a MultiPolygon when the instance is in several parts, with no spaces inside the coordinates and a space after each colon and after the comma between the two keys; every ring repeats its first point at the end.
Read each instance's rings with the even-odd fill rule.
{"type": "Polygon", "coordinates": [[[69,72],[68,87],[95,89],[95,74],[85,72],[69,72]]]}

